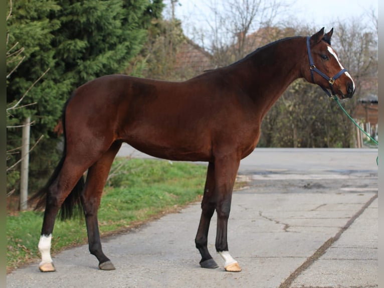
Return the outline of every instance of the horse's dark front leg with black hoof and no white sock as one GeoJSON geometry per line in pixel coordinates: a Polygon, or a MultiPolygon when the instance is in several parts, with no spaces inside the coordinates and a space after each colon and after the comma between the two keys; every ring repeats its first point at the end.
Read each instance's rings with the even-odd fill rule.
{"type": "Polygon", "coordinates": [[[204,196],[202,201],[202,216],[200,218],[199,229],[195,239],[196,248],[199,249],[200,254],[202,255],[200,265],[203,268],[218,267],[218,264],[212,258],[207,247],[210,222],[216,207],[216,200],[215,200],[214,193],[215,193],[215,164],[213,162],[210,162],[208,165],[207,180],[204,188],[204,196]]]}

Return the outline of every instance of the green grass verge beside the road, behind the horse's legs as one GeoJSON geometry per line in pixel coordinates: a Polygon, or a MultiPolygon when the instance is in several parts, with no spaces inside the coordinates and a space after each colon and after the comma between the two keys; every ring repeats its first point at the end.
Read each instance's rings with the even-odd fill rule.
{"type": "MultiPolygon", "coordinates": [[[[99,208],[102,235],[175,211],[201,198],[206,167],[157,160],[116,159],[99,208]]],[[[10,212],[10,211],[9,211],[10,212]]],[[[43,212],[7,216],[7,271],[40,258],[37,248],[43,212]]],[[[87,243],[84,219],[57,220],[52,254],[87,243]]]]}

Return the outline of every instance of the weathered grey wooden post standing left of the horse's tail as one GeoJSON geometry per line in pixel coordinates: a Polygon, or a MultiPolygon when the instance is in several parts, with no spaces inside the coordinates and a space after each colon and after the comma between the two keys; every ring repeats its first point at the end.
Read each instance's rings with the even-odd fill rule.
{"type": "Polygon", "coordinates": [[[31,117],[27,117],[23,124],[22,135],[22,162],[20,175],[20,210],[28,208],[28,168],[29,168],[29,150],[30,150],[30,133],[31,133],[31,117]]]}

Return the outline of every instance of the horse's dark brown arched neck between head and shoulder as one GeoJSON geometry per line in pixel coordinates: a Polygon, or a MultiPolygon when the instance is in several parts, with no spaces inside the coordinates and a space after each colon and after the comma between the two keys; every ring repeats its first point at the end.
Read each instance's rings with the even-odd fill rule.
{"type": "Polygon", "coordinates": [[[268,112],[288,86],[302,77],[301,65],[305,50],[300,39],[277,42],[248,56],[233,67],[237,82],[252,98],[261,117],[268,112]]]}

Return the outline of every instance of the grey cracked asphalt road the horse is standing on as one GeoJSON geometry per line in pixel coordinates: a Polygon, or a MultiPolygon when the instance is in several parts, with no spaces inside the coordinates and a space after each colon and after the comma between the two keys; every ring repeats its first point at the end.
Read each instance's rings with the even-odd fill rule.
{"type": "MultiPolygon", "coordinates": [[[[132,150],[123,147],[120,156],[132,150]]],[[[134,152],[134,157],[144,157],[134,152]]],[[[376,149],[256,149],[244,159],[233,194],[229,249],[243,271],[199,266],[194,238],[200,204],[134,231],[102,239],[116,270],[101,271],[88,246],[7,275],[7,287],[376,287],[376,149]]],[[[56,235],[60,236],[60,235],[56,235]]]]}

